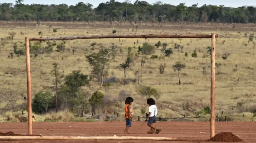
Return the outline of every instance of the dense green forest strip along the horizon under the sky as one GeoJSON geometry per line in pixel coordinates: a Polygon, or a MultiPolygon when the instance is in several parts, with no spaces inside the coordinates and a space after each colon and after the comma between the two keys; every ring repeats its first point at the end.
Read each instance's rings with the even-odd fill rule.
{"type": "Polygon", "coordinates": [[[43,5],[0,3],[0,20],[2,21],[118,21],[118,22],[216,22],[216,23],[256,23],[256,7],[237,8],[224,5],[186,6],[185,3],[170,5],[158,1],[150,4],[136,0],[131,3],[110,0],[93,8],[90,3],[79,2],[76,5],[43,5]]]}

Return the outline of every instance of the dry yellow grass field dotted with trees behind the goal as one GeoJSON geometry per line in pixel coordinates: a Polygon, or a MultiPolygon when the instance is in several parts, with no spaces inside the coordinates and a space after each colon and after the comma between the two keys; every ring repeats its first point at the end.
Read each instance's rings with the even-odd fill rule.
{"type": "MultiPolygon", "coordinates": [[[[136,30],[134,25],[115,25],[116,34],[219,34],[216,40],[216,113],[221,111],[225,115],[233,114],[234,120],[252,120],[251,110],[256,108],[256,28],[255,25],[245,24],[142,24],[136,30]],[[249,40],[250,34],[253,38],[249,40]],[[254,34],[254,35],[253,35],[254,34]],[[248,42],[249,41],[249,42],[248,42]],[[228,55],[223,59],[223,55],[228,55]],[[237,67],[235,67],[237,65],[237,67]],[[235,69],[237,69],[235,71],[235,69]],[[239,103],[239,104],[237,104],[239,103]],[[244,113],[244,116],[242,116],[244,113]]],[[[13,52],[13,45],[17,42],[18,48],[24,47],[25,37],[64,37],[75,35],[100,35],[112,34],[112,26],[109,23],[53,23],[41,22],[36,29],[33,22],[0,22],[0,110],[16,111],[26,103],[23,99],[26,96],[26,63],[25,56],[10,58],[13,52]],[[57,28],[57,32],[53,29],[57,28]],[[42,34],[38,35],[41,31],[42,34]],[[13,40],[4,40],[9,32],[16,32],[13,40]],[[9,56],[9,57],[8,57],[9,56]]],[[[251,36],[251,37],[252,37],[251,36]]],[[[121,90],[130,91],[135,99],[133,103],[134,116],[142,116],[141,109],[148,109],[146,99],[141,99],[135,91],[138,81],[123,85],[124,71],[118,68],[119,64],[127,58],[127,48],[132,48],[133,65],[128,71],[130,79],[137,79],[135,74],[140,67],[140,59],[134,55],[137,47],[144,42],[154,45],[158,41],[166,42],[167,48],[173,49],[170,57],[164,57],[162,47],[156,48],[154,55],[157,59],[150,59],[151,55],[145,56],[145,67],[143,67],[143,85],[151,86],[161,93],[157,100],[159,108],[158,116],[162,117],[194,117],[195,111],[210,105],[210,78],[211,58],[207,53],[207,47],[211,46],[211,39],[88,39],[88,40],[67,40],[66,48],[75,49],[69,52],[54,52],[42,54],[38,57],[31,57],[31,84],[32,94],[41,90],[51,89],[54,77],[50,74],[54,62],[59,63],[61,71],[65,75],[73,70],[81,70],[83,74],[90,74],[91,67],[85,55],[97,52],[100,45],[110,46],[114,43],[122,53],[117,52],[116,58],[111,62],[109,77],[115,76],[120,82],[111,83],[111,87],[105,91],[97,82],[90,81],[90,86],[83,89],[89,91],[102,90],[110,99],[116,99],[121,90]],[[138,41],[138,42],[137,42],[138,41]],[[90,44],[96,42],[92,47],[90,44]],[[174,49],[174,45],[180,44],[184,48],[174,49]],[[189,44],[189,46],[187,45],[189,44]],[[192,57],[196,50],[197,57],[192,57]],[[188,56],[185,56],[185,53],[188,56]],[[178,85],[178,73],[173,70],[175,62],[180,61],[186,64],[182,69],[181,85],[178,85]],[[160,64],[166,64],[164,73],[159,73],[160,64]],[[205,74],[203,74],[205,67],[205,74]],[[111,75],[113,73],[114,75],[111,75]],[[187,109],[183,107],[187,106],[187,109]]],[[[61,41],[56,41],[57,43],[61,41]]],[[[33,45],[35,42],[31,42],[33,45]]],[[[46,45],[46,42],[42,42],[46,45]]],[[[141,68],[141,67],[140,67],[141,68]]],[[[112,111],[123,113],[123,108],[109,108],[112,111]]],[[[208,120],[209,116],[201,120],[208,120]]]]}

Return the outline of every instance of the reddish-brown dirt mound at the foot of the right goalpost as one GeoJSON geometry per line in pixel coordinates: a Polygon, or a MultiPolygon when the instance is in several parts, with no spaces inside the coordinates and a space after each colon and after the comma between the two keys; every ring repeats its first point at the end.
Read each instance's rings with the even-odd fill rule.
{"type": "Polygon", "coordinates": [[[206,141],[239,142],[243,140],[231,132],[220,132],[217,135],[215,135],[213,138],[206,141]]]}

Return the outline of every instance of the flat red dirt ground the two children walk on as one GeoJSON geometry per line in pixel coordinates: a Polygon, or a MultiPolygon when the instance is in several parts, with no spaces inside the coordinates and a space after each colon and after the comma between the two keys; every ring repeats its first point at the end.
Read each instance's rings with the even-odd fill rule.
{"type": "MultiPolygon", "coordinates": [[[[161,136],[176,137],[179,141],[112,140],[112,141],[67,141],[67,140],[22,140],[0,141],[0,143],[213,143],[209,139],[210,122],[157,122],[159,134],[147,134],[149,127],[144,122],[132,123],[130,135],[125,135],[124,122],[72,122],[33,123],[33,134],[43,136],[161,136]]],[[[12,131],[16,134],[28,133],[27,123],[0,123],[0,132],[12,131]]],[[[235,136],[256,143],[256,122],[216,122],[215,135],[220,132],[232,132],[235,136]]],[[[225,143],[225,142],[219,142],[225,143]]]]}

